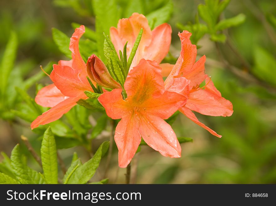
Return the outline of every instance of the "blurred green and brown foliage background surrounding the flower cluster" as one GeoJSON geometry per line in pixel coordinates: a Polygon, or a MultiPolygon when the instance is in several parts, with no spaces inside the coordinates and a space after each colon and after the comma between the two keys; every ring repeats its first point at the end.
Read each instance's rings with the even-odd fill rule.
{"type": "MultiPolygon", "coordinates": [[[[221,139],[184,115],[177,115],[172,123],[174,131],[178,137],[189,137],[193,142],[181,144],[182,157],[178,159],[163,157],[142,145],[132,161],[131,182],[276,183],[276,3],[273,0],[232,0],[215,21],[238,16],[220,27],[212,26],[212,22],[201,17],[199,4],[204,1],[116,1],[114,9],[119,11],[118,19],[127,18],[135,11],[146,15],[155,26],[163,22],[172,26],[172,45],[164,62],[174,63],[180,54],[178,32],[191,31],[192,42],[198,47],[198,59],[206,55],[206,73],[222,96],[233,103],[234,110],[233,115],[226,118],[196,114],[201,122],[222,135],[221,139]],[[152,18],[155,14],[158,18],[152,18]]],[[[99,9],[103,6],[98,4],[99,9]]],[[[53,63],[68,59],[57,46],[59,43],[53,40],[52,28],[68,37],[78,24],[85,25],[87,33],[88,29],[95,30],[95,15],[100,15],[98,7],[95,8],[91,0],[0,2],[0,151],[10,156],[13,147],[20,143],[29,157],[29,166],[38,171],[40,167],[20,136],[28,137],[39,153],[41,131],[46,127],[31,131],[30,122],[45,108],[32,104],[31,98],[38,89],[51,83],[39,66],[50,73],[53,63]],[[13,48],[15,52],[7,52],[5,48],[13,48]]],[[[109,13],[100,17],[110,18],[109,13]]],[[[112,20],[118,22],[118,19],[112,20]]],[[[87,53],[93,52],[97,44],[93,34],[87,34],[87,40],[83,40],[83,50],[87,53]]],[[[74,151],[85,162],[90,158],[89,150],[93,152],[100,143],[109,140],[109,120],[100,113],[86,114],[85,111],[77,105],[62,121],[51,125],[66,167],[74,151]],[[87,151],[85,138],[97,125],[98,117],[104,119],[107,126],[88,137],[89,141],[93,139],[93,145],[87,151]]],[[[118,167],[118,151],[115,144],[113,147],[107,177],[109,183],[124,183],[126,170],[118,167]]],[[[0,156],[0,161],[2,159],[0,156]]],[[[94,181],[103,178],[107,161],[104,157],[94,181]]]]}

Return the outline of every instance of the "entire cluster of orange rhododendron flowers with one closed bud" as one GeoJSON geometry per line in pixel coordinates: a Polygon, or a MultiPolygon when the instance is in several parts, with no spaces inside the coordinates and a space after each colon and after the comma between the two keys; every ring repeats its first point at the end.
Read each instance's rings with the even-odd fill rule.
{"type": "Polygon", "coordinates": [[[109,88],[109,91],[103,88],[99,103],[110,118],[121,119],[114,135],[120,167],[130,163],[141,138],[163,156],[180,157],[178,139],[171,126],[164,121],[177,110],[211,134],[221,137],[199,122],[192,112],[224,117],[233,113],[232,103],[221,97],[210,77],[205,74],[205,56],[195,62],[196,46],[189,40],[192,34],[188,31],[178,34],[182,47],[175,65],[161,64],[171,43],[170,25],[164,23],[151,31],[146,17],[133,13],[130,18],[120,19],[117,28],[110,28],[110,38],[119,57],[126,42],[126,55],[130,55],[141,28],[143,34],[140,44],[124,84],[114,80],[96,55],[89,57],[85,64],[78,49],[79,39],[85,32],[84,26],[77,28],[69,47],[72,60],[53,65],[50,79],[54,83],[42,88],[35,98],[36,103],[51,108],[35,119],[31,128],[61,118],[79,99],[88,98],[84,91],[96,92],[91,86],[100,85],[109,88]],[[93,85],[90,85],[87,77],[93,85]],[[163,77],[167,77],[165,82],[163,77]],[[204,81],[205,86],[200,87],[204,81]]]}

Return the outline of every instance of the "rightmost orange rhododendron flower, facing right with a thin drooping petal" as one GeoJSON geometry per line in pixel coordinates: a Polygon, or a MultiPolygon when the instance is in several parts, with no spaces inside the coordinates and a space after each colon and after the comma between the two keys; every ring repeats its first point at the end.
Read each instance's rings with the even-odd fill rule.
{"type": "MultiPolygon", "coordinates": [[[[214,83],[205,74],[205,55],[199,61],[195,62],[197,49],[196,45],[192,45],[188,31],[178,34],[181,40],[181,54],[173,67],[173,70],[165,81],[165,89],[168,91],[183,93],[182,88],[175,85],[174,78],[185,77],[190,80],[189,98],[187,103],[179,109],[189,119],[199,126],[207,129],[212,135],[221,137],[215,131],[199,122],[192,111],[210,116],[231,116],[233,113],[233,105],[229,100],[221,97],[220,92],[215,88],[214,83]],[[205,80],[204,88],[199,85],[205,80]]],[[[188,94],[187,94],[188,95],[188,94]]]]}

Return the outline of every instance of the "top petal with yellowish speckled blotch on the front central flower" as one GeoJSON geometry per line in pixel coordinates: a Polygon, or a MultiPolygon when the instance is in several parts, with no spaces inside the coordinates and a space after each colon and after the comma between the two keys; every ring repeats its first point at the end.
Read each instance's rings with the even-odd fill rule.
{"type": "Polygon", "coordinates": [[[164,82],[161,68],[157,62],[141,59],[125,80],[127,100],[138,105],[149,98],[157,98],[164,92],[164,82]]]}

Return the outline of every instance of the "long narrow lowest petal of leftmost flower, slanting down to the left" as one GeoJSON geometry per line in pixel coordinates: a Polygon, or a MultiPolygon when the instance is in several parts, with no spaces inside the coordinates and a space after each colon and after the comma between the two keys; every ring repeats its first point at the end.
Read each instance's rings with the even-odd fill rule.
{"type": "Polygon", "coordinates": [[[67,113],[73,106],[75,106],[80,98],[87,97],[69,97],[64,101],[58,103],[56,106],[50,108],[48,111],[44,112],[38,116],[31,124],[31,128],[34,129],[39,125],[48,124],[50,122],[56,121],[61,118],[63,114],[67,113]]]}

